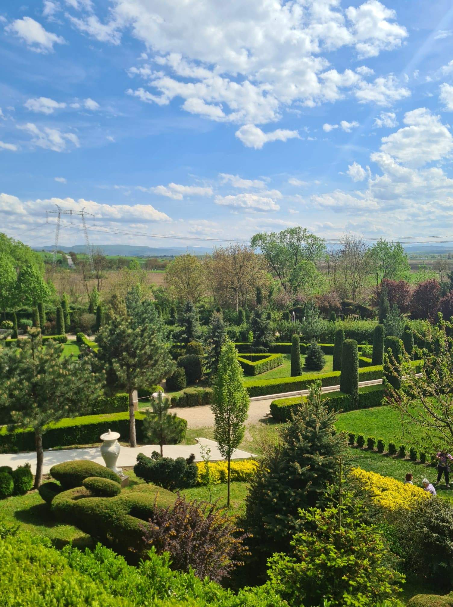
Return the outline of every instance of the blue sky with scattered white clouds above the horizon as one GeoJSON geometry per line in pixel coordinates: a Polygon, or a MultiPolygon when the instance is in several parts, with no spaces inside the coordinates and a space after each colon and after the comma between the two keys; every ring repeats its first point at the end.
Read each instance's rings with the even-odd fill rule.
{"type": "Polygon", "coordinates": [[[95,243],[453,233],[451,2],[6,0],[0,62],[0,229],[31,245],[55,204],[95,243]]]}

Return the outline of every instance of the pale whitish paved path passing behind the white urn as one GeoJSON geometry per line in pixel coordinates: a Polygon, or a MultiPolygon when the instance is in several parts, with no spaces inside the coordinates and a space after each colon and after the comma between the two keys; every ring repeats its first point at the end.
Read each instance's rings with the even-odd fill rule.
{"type": "MultiPolygon", "coordinates": [[[[196,445],[165,445],[163,447],[164,457],[183,457],[188,458],[191,453],[194,453],[196,461],[202,461],[200,452],[200,444],[203,444],[211,449],[211,459],[223,459],[220,455],[219,447],[216,441],[211,441],[208,438],[197,438],[196,445]]],[[[158,445],[145,445],[143,447],[121,447],[120,456],[118,457],[117,467],[134,466],[137,463],[138,453],[145,453],[151,457],[153,451],[160,452],[158,445]]],[[[232,459],[243,459],[253,456],[253,453],[236,449],[232,459]]],[[[48,474],[50,468],[55,464],[60,464],[64,461],[72,461],[73,459],[89,459],[104,466],[104,460],[101,456],[99,447],[89,447],[87,449],[61,449],[44,451],[44,474],[48,474]]],[[[27,462],[32,466],[32,472],[36,472],[36,453],[2,453],[0,454],[0,466],[10,466],[15,470],[18,466],[23,466],[27,462]]]]}

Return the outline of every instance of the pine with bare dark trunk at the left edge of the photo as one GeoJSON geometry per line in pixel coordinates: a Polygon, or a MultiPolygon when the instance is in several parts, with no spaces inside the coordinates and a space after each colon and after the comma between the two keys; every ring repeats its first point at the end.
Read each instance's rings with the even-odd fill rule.
{"type": "Polygon", "coordinates": [[[35,433],[37,488],[47,424],[83,415],[100,397],[103,382],[92,372],[91,356],[81,361],[62,356],[62,344],[50,341],[44,348],[39,329],[29,333],[31,339],[16,347],[0,348],[0,407],[9,410],[14,428],[35,433]]]}

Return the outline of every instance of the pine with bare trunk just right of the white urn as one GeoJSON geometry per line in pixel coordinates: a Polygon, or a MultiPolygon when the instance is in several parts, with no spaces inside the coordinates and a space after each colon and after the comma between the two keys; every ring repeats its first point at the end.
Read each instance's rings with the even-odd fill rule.
{"type": "Polygon", "coordinates": [[[134,390],[159,384],[175,370],[170,342],[155,305],[129,292],[127,312],[113,317],[97,333],[97,363],[107,377],[116,377],[129,395],[129,442],[137,446],[134,390]]]}

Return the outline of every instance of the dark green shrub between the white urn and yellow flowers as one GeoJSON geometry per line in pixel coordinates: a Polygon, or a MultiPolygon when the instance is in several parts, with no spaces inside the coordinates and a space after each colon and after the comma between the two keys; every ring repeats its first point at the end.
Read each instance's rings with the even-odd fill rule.
{"type": "Polygon", "coordinates": [[[137,464],[134,466],[134,472],[138,478],[143,478],[146,483],[152,483],[170,491],[186,489],[195,485],[197,466],[194,463],[194,455],[187,459],[183,457],[172,459],[161,457],[157,452],[154,453],[155,455],[151,458],[143,453],[138,453],[137,464]]]}

